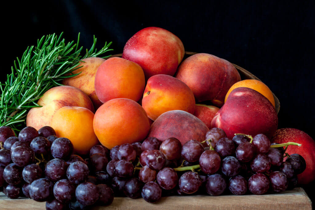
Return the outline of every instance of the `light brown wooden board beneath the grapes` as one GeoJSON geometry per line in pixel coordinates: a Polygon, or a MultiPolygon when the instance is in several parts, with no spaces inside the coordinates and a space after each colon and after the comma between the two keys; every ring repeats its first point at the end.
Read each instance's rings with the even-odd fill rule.
{"type": "MultiPolygon", "coordinates": [[[[45,209],[45,202],[27,198],[9,199],[0,194],[0,209],[45,209]]],[[[243,196],[169,196],[157,203],[148,203],[142,198],[115,197],[112,205],[93,209],[312,209],[312,202],[302,188],[278,194],[243,196]]]]}

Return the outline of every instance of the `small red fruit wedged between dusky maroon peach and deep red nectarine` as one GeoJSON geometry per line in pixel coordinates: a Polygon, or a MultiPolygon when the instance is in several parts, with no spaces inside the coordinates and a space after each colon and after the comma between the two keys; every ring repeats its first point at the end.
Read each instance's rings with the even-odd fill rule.
{"type": "Polygon", "coordinates": [[[196,104],[194,116],[198,117],[210,129],[211,121],[218,111],[219,108],[216,106],[196,104]]]}

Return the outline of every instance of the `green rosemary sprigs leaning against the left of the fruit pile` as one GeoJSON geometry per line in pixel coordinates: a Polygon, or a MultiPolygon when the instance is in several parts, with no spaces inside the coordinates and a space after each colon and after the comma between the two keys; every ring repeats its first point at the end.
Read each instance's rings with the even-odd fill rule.
{"type": "MultiPolygon", "coordinates": [[[[27,47],[19,59],[14,61],[12,73],[7,81],[0,83],[0,126],[10,126],[20,130],[25,126],[27,111],[32,107],[40,107],[36,101],[49,89],[59,86],[60,81],[79,67],[79,61],[87,57],[104,54],[112,42],[97,51],[96,38],[92,47],[82,56],[83,47],[79,47],[80,33],[77,42],[66,43],[65,39],[55,34],[43,36],[37,40],[37,46],[27,47]]],[[[109,57],[105,56],[103,58],[109,57]]]]}

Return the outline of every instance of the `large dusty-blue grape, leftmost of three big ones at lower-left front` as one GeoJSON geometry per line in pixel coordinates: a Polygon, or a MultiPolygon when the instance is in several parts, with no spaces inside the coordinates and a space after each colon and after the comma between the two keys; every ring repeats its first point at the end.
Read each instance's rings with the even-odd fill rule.
{"type": "Polygon", "coordinates": [[[35,201],[48,201],[53,195],[53,183],[46,178],[36,179],[30,187],[31,199],[35,201]]]}

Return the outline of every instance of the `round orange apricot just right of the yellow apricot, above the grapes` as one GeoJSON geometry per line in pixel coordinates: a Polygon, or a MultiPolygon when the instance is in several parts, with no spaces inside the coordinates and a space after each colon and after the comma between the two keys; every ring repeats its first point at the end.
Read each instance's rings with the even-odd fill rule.
{"type": "Polygon", "coordinates": [[[93,128],[100,143],[108,149],[142,141],[149,132],[146,111],[131,99],[112,99],[95,112],[93,128]]]}

